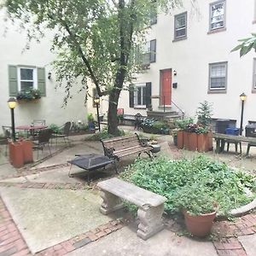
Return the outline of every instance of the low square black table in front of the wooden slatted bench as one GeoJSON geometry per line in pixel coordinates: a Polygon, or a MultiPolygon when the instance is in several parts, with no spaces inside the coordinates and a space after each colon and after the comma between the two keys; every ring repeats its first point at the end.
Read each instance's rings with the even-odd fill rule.
{"type": "MultiPolygon", "coordinates": [[[[73,160],[68,160],[67,162],[74,165],[79,166],[88,172],[87,174],[87,183],[90,183],[90,172],[96,171],[99,168],[107,166],[108,164],[113,164],[113,160],[109,159],[108,156],[102,154],[76,154],[76,158],[73,160]]],[[[68,172],[68,177],[73,177],[73,174],[68,172]]]]}

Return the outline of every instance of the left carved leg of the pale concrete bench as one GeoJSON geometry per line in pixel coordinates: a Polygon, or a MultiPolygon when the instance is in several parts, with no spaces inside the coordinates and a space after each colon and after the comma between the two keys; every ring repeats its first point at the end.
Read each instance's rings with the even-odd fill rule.
{"type": "Polygon", "coordinates": [[[108,191],[101,191],[102,196],[102,206],[100,212],[107,215],[109,212],[114,212],[123,208],[123,202],[119,199],[118,196],[109,193],[108,191]]]}

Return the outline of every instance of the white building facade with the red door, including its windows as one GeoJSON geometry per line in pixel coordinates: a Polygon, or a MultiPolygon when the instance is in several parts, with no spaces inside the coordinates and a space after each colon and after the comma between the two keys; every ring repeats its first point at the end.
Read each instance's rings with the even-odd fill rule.
{"type": "Polygon", "coordinates": [[[213,118],[236,119],[239,126],[244,92],[244,125],[256,120],[255,52],[242,58],[238,51],[231,52],[238,39],[255,32],[255,9],[254,0],[206,0],[194,6],[184,0],[172,15],[158,15],[148,30],[145,73],[137,74],[136,90],[122,91],[119,108],[147,115],[151,103],[153,110],[180,108],[193,117],[199,103],[207,101],[213,118]]]}

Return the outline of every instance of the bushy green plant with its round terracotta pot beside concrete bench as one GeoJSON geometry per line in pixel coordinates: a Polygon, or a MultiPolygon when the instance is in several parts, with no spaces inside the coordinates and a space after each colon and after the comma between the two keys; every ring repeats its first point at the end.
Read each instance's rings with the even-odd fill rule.
{"type": "Polygon", "coordinates": [[[217,204],[207,186],[191,183],[177,191],[175,201],[184,215],[187,230],[198,237],[210,234],[217,213],[217,204]]]}

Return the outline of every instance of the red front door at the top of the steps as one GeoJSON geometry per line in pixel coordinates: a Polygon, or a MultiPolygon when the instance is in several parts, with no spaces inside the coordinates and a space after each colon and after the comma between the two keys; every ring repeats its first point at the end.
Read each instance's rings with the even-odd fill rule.
{"type": "Polygon", "coordinates": [[[160,70],[160,105],[172,103],[172,69],[160,70]]]}

